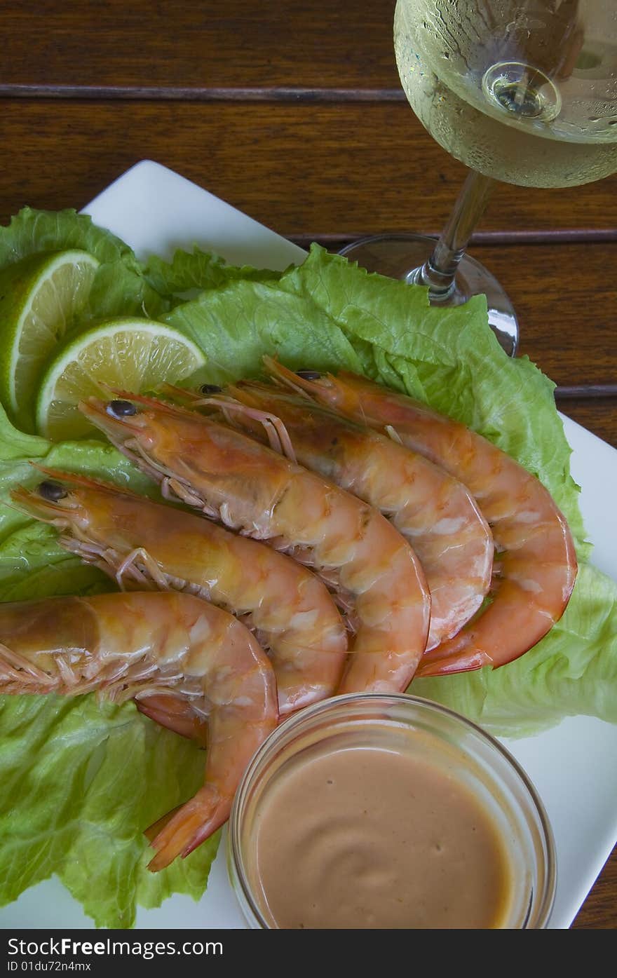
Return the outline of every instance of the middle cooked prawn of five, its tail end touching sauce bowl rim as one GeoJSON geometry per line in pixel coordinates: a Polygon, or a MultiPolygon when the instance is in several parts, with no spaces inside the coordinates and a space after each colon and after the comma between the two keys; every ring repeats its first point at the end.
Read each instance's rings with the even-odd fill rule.
{"type": "Polygon", "coordinates": [[[311,563],[339,590],[356,654],[338,691],[405,689],[426,645],[430,598],[418,558],[391,523],[240,431],[141,395],[121,397],[79,407],[164,493],[311,563]]]}

